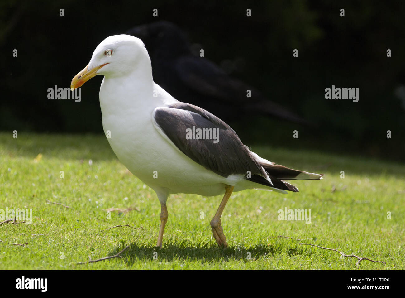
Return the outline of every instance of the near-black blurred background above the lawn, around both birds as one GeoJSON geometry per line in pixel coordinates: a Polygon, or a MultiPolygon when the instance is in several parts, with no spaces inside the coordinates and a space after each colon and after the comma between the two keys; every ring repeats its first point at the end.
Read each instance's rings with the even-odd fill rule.
{"type": "Polygon", "coordinates": [[[243,114],[229,124],[245,144],[404,161],[404,17],[401,0],[2,1],[0,131],[102,134],[102,76],[83,86],[80,103],[48,99],[47,89],[70,87],[107,36],[164,20],[231,77],[312,123],[243,114]],[[332,85],[359,88],[358,103],[325,99],[332,85]]]}

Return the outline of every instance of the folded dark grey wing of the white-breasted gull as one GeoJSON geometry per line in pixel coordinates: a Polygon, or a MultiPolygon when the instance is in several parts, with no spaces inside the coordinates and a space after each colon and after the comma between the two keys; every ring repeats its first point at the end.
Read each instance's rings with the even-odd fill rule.
{"type": "Polygon", "coordinates": [[[157,107],[153,111],[153,122],[181,152],[218,175],[246,175],[250,171],[252,176],[267,176],[230,126],[200,107],[180,102],[157,107]],[[209,139],[190,139],[193,126],[196,132],[205,129],[209,139]]]}

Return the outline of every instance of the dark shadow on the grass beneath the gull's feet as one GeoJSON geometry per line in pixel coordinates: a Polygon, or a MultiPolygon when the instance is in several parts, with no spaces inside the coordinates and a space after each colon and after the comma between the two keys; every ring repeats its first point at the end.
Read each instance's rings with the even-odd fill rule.
{"type": "MultiPolygon", "coordinates": [[[[116,248],[110,255],[119,253],[124,247],[116,248]]],[[[242,262],[252,262],[255,259],[269,258],[275,255],[288,254],[307,255],[310,252],[296,247],[275,244],[275,246],[265,243],[254,246],[230,246],[220,248],[217,244],[190,244],[190,242],[172,242],[164,244],[162,249],[158,247],[149,247],[145,245],[130,244],[130,247],[122,253],[122,259],[128,266],[137,262],[153,260],[157,257],[160,262],[173,261],[200,261],[201,263],[211,261],[230,261],[237,260],[242,262]]]]}

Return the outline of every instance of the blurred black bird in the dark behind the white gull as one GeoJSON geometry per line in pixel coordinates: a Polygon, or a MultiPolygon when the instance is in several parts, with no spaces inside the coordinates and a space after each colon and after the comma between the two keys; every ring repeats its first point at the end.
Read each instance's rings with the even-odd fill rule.
{"type": "Polygon", "coordinates": [[[136,26],[126,34],[142,39],[151,57],[153,80],[179,101],[211,111],[224,121],[263,115],[308,124],[207,58],[195,56],[185,33],[171,22],[136,26]]]}

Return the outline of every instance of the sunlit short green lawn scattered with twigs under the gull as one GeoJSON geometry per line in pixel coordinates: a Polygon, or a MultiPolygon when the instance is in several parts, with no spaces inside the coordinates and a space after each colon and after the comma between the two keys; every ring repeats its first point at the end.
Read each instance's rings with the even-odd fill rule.
{"type": "Polygon", "coordinates": [[[227,249],[217,247],[209,225],[222,197],[171,195],[158,249],[156,194],[126,170],[103,135],[1,133],[0,209],[32,209],[32,223],[0,225],[0,269],[405,269],[403,164],[276,147],[252,150],[288,167],[324,173],[325,179],[294,182],[300,192],[288,195],[233,193],[222,215],[227,249]],[[310,209],[311,223],[278,220],[277,211],[285,207],[310,209]],[[108,216],[110,208],[117,210],[108,216]],[[115,225],[135,229],[103,231],[115,225]],[[365,260],[357,268],[354,257],[299,242],[386,264],[365,260]],[[127,245],[122,258],[77,264],[127,245]]]}

